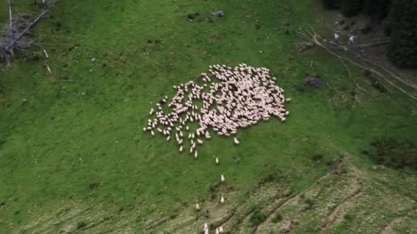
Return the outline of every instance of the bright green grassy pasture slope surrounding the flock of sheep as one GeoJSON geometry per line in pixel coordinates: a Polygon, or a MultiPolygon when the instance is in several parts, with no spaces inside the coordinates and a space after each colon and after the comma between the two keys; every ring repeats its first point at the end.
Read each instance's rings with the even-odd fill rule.
{"type": "MultiPolygon", "coordinates": [[[[15,2],[16,12],[35,14],[34,1],[15,2]]],[[[5,23],[6,1],[0,8],[5,23]]],[[[366,90],[353,106],[355,84],[344,66],[318,48],[298,52],[303,40],[285,32],[287,25],[331,32],[334,14],[324,12],[320,0],[60,1],[36,26],[38,60],[18,55],[11,68],[1,65],[0,233],[32,233],[62,207],[97,206],[121,215],[95,226],[96,232],[117,231],[123,220],[119,231],[146,233],[152,220],[208,196],[220,174],[240,194],[268,174],[298,192],[344,153],[359,170],[386,175],[381,186],[388,194],[415,196],[416,172],[373,172],[361,151],[383,136],[416,142],[417,102],[386,83],[390,92],[378,92],[363,70],[351,67],[366,90]],[[208,21],[217,10],[226,16],[208,21]],[[190,22],[187,14],[195,12],[199,16],[190,22]],[[286,122],[274,118],[239,131],[239,146],[215,135],[199,149],[198,160],[178,153],[173,141],[143,133],[151,103],[174,95],[172,86],[195,80],[208,65],[241,62],[270,68],[278,77],[292,99],[286,122]],[[320,75],[322,87],[304,88],[309,75],[320,75]],[[324,162],[313,155],[323,155],[324,162]]],[[[383,212],[387,222],[395,218],[383,212]]],[[[409,219],[404,230],[415,230],[416,216],[409,219]]],[[[75,223],[80,230],[89,225],[75,223]]],[[[54,225],[51,233],[62,228],[54,225]]],[[[335,230],[351,228],[340,224],[335,230]]]]}

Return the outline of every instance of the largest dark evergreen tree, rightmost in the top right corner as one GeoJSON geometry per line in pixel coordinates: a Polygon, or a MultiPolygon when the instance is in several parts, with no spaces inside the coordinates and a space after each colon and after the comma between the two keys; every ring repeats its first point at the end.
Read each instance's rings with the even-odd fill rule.
{"type": "Polygon", "coordinates": [[[417,0],[394,0],[390,60],[401,67],[417,68],[417,0]]]}

